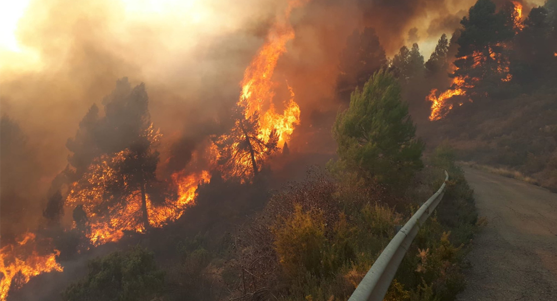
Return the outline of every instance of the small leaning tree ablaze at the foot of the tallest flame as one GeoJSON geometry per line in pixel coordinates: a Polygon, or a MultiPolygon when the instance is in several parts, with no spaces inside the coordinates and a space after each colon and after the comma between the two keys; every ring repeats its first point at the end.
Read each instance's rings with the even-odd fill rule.
{"type": "Polygon", "coordinates": [[[246,110],[243,102],[237,103],[233,110],[234,126],[228,134],[214,139],[224,174],[240,179],[257,175],[265,159],[278,150],[276,130],[264,135],[259,125],[259,112],[246,117],[246,110]]]}

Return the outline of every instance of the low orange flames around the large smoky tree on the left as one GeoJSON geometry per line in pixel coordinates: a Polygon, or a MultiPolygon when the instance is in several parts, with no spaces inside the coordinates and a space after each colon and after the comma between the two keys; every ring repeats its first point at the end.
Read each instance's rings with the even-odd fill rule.
{"type": "MultiPolygon", "coordinates": [[[[84,175],[86,184],[74,182],[67,197],[70,206],[83,205],[89,218],[89,233],[87,238],[91,244],[97,246],[113,241],[118,241],[124,236],[124,231],[135,231],[143,233],[144,225],[138,222],[138,213],[141,211],[140,190],[133,191],[123,206],[110,205],[108,213],[100,214],[97,206],[105,201],[105,183],[118,181],[115,179],[115,171],[111,167],[114,162],[124,160],[124,151],[114,156],[104,155],[89,167],[84,175]]],[[[201,182],[209,180],[209,172],[193,172],[185,174],[185,171],[176,172],[171,176],[172,186],[177,191],[177,198],[163,200],[162,204],[154,204],[150,196],[146,195],[146,207],[149,225],[155,228],[168,224],[178,219],[183,210],[193,203],[197,196],[197,187],[201,182]]]]}

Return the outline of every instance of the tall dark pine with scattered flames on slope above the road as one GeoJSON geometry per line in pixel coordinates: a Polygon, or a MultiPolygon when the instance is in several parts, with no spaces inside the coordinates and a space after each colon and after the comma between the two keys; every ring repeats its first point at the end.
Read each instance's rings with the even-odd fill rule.
{"type": "Polygon", "coordinates": [[[463,105],[462,98],[453,96],[487,96],[504,93],[501,83],[509,82],[510,41],[520,31],[522,6],[518,2],[507,3],[496,12],[495,3],[478,0],[460,22],[463,28],[456,43],[459,46],[451,87],[437,95],[431,90],[427,99],[432,102],[429,120],[438,120],[448,114],[453,106],[463,105]]]}

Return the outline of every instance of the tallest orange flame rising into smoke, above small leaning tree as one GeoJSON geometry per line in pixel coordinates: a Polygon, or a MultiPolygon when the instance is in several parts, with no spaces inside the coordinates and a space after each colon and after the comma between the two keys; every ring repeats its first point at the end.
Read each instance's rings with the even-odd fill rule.
{"type": "Polygon", "coordinates": [[[273,103],[275,82],[272,81],[272,76],[278,58],[286,52],[286,43],[295,37],[294,28],[289,22],[290,13],[307,1],[292,0],[288,3],[284,15],[277,18],[267,34],[267,41],[246,68],[241,82],[242,92],[238,102],[247,108],[246,118],[256,111],[260,112],[261,135],[258,138],[267,141],[274,129],[278,135],[279,147],[290,140],[295,125],[300,124],[300,107],[294,101],[294,91],[288,86],[290,100],[284,103],[282,114],[276,112],[273,103]]]}

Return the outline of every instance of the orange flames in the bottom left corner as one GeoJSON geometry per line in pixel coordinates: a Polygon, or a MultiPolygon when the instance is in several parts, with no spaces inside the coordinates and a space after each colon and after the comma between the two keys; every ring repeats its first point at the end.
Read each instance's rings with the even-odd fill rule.
{"type": "Polygon", "coordinates": [[[27,232],[15,244],[4,245],[0,249],[0,301],[8,298],[12,285],[21,288],[31,277],[52,271],[62,272],[63,268],[56,262],[60,251],[41,254],[37,251],[35,238],[35,234],[27,232]]]}

